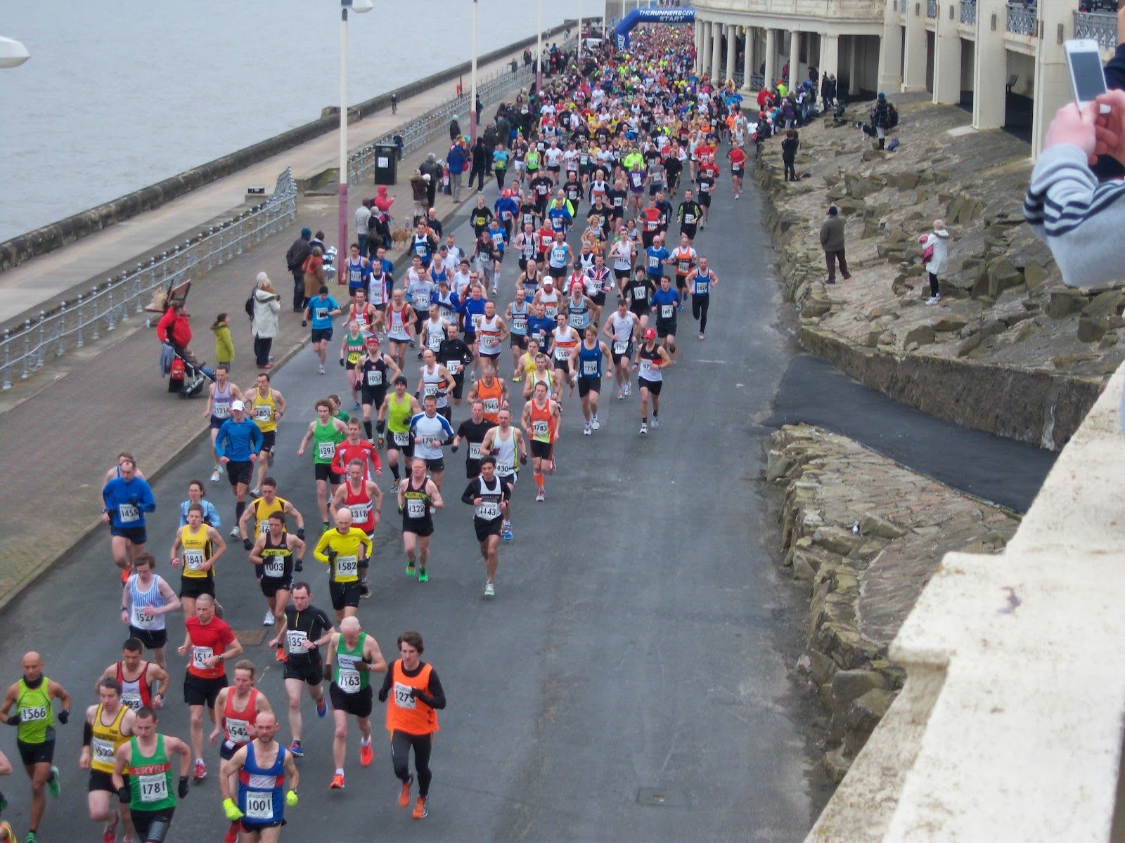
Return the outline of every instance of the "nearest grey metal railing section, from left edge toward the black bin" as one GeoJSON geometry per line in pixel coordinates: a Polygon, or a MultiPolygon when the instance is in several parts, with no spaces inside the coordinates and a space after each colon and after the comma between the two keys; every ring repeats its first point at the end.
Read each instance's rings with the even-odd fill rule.
{"type": "Polygon", "coordinates": [[[130,316],[140,316],[153,291],[197,277],[233,261],[244,250],[287,228],[297,218],[297,183],[289,167],[278,175],[272,196],[261,205],[176,246],[153,255],[132,272],[107,278],[74,299],[58,302],[36,319],[3,332],[0,338],[0,389],[27,380],[36,370],[70,351],[111,332],[130,316]]]}

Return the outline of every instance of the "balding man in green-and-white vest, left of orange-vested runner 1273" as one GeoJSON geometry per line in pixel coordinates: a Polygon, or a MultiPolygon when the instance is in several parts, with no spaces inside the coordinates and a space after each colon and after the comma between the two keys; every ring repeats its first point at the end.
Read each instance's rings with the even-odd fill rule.
{"type": "Polygon", "coordinates": [[[324,678],[331,679],[328,696],[332,698],[332,717],[336,732],[332,740],[332,759],[336,765],[330,790],[344,789],[344,756],[348,752],[348,715],[356,717],[359,726],[359,763],[368,767],[375,758],[371,747],[371,672],[387,669],[379,651],[379,643],[362,632],[359,618],[345,617],[340,632],[332,633],[328,658],[324,663],[324,678]]]}

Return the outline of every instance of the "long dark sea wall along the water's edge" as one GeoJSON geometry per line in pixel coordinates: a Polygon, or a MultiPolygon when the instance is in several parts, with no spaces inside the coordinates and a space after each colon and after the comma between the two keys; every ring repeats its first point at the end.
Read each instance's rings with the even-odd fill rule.
{"type": "MultiPolygon", "coordinates": [[[[566,27],[567,24],[555,27],[544,33],[544,37],[552,37],[566,29],[566,27]]],[[[494,62],[508,53],[522,49],[534,43],[536,36],[523,38],[506,47],[494,49],[486,55],[479,56],[477,63],[479,65],[494,62]]],[[[434,85],[449,82],[468,73],[470,70],[471,64],[464,62],[439,73],[433,73],[425,79],[420,79],[402,88],[397,88],[394,91],[388,91],[387,93],[364,100],[352,108],[362,117],[389,107],[392,94],[396,94],[400,101],[421,91],[429,90],[434,85]]],[[[111,201],[61,219],[57,223],[40,226],[26,234],[4,241],[0,243],[0,272],[7,272],[33,257],[53,252],[56,248],[62,248],[70,243],[96,234],[111,225],[152,210],[153,208],[159,208],[164,202],[183,196],[196,188],[209,184],[213,181],[236,173],[251,164],[256,164],[286,149],[299,146],[315,137],[334,130],[339,126],[339,118],[333,109],[331,114],[326,116],[322,115],[320,119],[312,123],[306,123],[280,135],[267,138],[251,146],[245,146],[230,155],[208,161],[206,164],[164,179],[156,184],[150,184],[132,193],[126,193],[111,201]]]]}

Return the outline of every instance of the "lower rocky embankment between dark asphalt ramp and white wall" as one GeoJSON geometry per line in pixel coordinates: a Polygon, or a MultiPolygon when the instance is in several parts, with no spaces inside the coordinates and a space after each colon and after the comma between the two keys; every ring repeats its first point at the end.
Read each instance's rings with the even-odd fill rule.
{"type": "Polygon", "coordinates": [[[838,782],[902,685],[888,645],[942,558],[999,552],[1019,520],[808,425],[773,435],[767,480],[784,488],[783,564],[809,587],[798,668],[828,710],[838,782]]]}

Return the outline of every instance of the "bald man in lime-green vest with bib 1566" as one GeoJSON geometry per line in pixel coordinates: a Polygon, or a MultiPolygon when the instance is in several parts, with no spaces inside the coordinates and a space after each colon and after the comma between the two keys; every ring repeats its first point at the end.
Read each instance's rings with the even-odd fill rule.
{"type": "Polygon", "coordinates": [[[55,713],[51,700],[57,699],[62,708],[58,722],[70,718],[70,695],[58,682],[43,676],[43,658],[25,653],[20,662],[24,677],[8,688],[0,704],[0,722],[17,726],[16,746],[19,749],[24,770],[32,780],[32,818],[25,843],[37,843],[39,823],[46,808],[44,789],[58,798],[58,768],[55,756],[55,713]],[[15,706],[15,708],[12,708],[15,706]],[[11,714],[9,714],[9,710],[11,714]]]}

